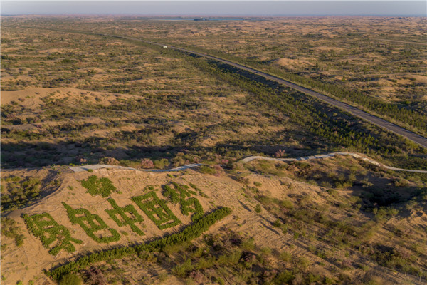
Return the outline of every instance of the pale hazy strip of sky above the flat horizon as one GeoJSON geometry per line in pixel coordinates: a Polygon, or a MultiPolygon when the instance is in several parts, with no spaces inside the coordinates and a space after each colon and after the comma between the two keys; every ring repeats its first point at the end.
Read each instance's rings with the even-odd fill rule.
{"type": "Polygon", "coordinates": [[[421,1],[1,1],[1,15],[427,16],[421,1]]]}

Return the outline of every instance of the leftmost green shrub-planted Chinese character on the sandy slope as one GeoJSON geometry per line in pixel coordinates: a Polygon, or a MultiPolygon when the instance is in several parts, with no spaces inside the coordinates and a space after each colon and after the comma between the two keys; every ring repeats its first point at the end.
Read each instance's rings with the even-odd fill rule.
{"type": "Polygon", "coordinates": [[[61,249],[64,249],[65,252],[75,252],[75,247],[71,242],[83,243],[80,239],[71,237],[70,231],[58,224],[51,214],[33,214],[32,216],[23,214],[22,218],[26,222],[28,230],[41,240],[43,247],[48,249],[53,244],[53,247],[49,249],[49,254],[56,255],[61,249]]]}

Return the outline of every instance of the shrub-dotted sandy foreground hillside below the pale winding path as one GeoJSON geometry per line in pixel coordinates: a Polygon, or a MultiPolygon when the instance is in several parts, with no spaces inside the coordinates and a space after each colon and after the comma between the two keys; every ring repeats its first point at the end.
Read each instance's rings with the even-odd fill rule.
{"type": "Polygon", "coordinates": [[[69,274],[80,276],[76,278],[83,278],[85,284],[422,284],[426,280],[426,175],[385,171],[353,157],[290,163],[258,160],[212,174],[201,168],[154,174],[114,169],[74,173],[47,167],[43,172],[6,170],[2,175],[2,182],[11,177],[6,179],[6,190],[17,180],[14,177],[58,181],[53,192],[43,185],[36,200],[3,218],[1,274],[6,284],[51,282],[42,269],[53,280],[69,274]],[[100,191],[90,192],[91,177],[104,181],[100,191]],[[171,196],[171,191],[180,198],[171,196]],[[164,201],[161,207],[172,211],[163,220],[174,219],[178,225],[162,227],[144,208],[149,204],[141,207],[132,202],[152,193],[157,201],[164,201]],[[117,214],[120,209],[130,211],[130,205],[134,214],[119,219],[121,223],[111,219],[112,206],[117,214]],[[212,220],[194,239],[192,225],[205,222],[201,216],[194,219],[196,208],[209,217],[206,214],[224,207],[231,213],[212,220]],[[102,219],[104,229],[88,232],[88,227],[79,227],[75,217],[81,214],[73,217],[68,212],[78,208],[88,211],[83,216],[88,221],[95,216],[102,219]],[[34,226],[22,219],[33,217],[37,222],[33,215],[43,213],[65,227],[64,237],[68,232],[68,238],[77,239],[70,252],[56,242],[41,247],[31,233],[34,226]],[[176,239],[174,235],[183,230],[189,238],[176,239]],[[162,236],[171,237],[170,243],[160,242],[162,236]]]}

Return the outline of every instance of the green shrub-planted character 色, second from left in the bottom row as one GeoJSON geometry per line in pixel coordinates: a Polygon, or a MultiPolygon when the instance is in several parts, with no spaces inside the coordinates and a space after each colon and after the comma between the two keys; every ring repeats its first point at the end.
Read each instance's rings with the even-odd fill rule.
{"type": "Polygon", "coordinates": [[[67,210],[68,218],[73,224],[79,224],[80,227],[91,237],[95,242],[99,243],[110,243],[117,242],[120,239],[120,234],[115,230],[111,229],[105,224],[97,214],[90,213],[87,209],[73,209],[72,207],[62,203],[67,210]],[[109,236],[102,235],[98,237],[95,232],[110,232],[109,236]]]}

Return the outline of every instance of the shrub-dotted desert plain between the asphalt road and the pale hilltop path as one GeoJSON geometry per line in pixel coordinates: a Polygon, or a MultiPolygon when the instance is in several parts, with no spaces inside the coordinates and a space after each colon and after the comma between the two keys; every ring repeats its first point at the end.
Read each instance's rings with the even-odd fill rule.
{"type": "MultiPolygon", "coordinates": [[[[4,20],[4,167],[97,163],[112,157],[134,167],[147,167],[141,160],[148,158],[154,167],[164,168],[274,155],[278,150],[300,156],[338,149],[364,152],[393,165],[426,168],[426,150],[295,90],[171,49],[58,31],[73,21],[78,21],[78,31],[104,25],[100,31],[106,32],[109,27],[102,18],[95,23],[78,18],[4,20]],[[6,81],[21,73],[31,83],[6,81]]],[[[158,29],[176,25],[131,23],[141,31],[149,23],[158,29]]],[[[207,25],[217,26],[216,31],[218,25],[242,22],[207,25]]],[[[127,34],[127,29],[120,31],[127,34]]],[[[411,120],[427,125],[424,109],[419,110],[411,120]]]]}

